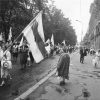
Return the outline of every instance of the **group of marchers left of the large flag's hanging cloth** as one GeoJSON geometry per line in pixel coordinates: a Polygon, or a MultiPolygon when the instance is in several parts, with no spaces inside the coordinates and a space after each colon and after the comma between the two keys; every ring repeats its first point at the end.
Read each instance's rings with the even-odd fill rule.
{"type": "Polygon", "coordinates": [[[20,58],[21,70],[25,69],[26,66],[31,66],[34,61],[26,43],[23,43],[20,47],[17,42],[13,45],[8,43],[0,45],[0,76],[2,80],[0,86],[3,86],[7,79],[12,79],[10,70],[13,64],[17,63],[18,56],[20,58]]]}

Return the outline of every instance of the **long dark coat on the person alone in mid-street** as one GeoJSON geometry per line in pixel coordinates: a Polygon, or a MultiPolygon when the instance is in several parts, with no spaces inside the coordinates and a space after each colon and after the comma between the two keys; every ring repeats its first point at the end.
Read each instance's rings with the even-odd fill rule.
{"type": "Polygon", "coordinates": [[[58,76],[68,79],[69,66],[70,56],[67,53],[62,53],[57,65],[58,76]]]}

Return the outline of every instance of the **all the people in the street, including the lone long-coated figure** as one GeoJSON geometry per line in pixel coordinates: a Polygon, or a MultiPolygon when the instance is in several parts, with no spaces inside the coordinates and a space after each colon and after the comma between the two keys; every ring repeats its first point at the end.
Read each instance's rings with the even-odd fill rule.
{"type": "MultiPolygon", "coordinates": [[[[45,45],[47,46],[47,45],[45,45]]],[[[61,43],[58,45],[52,45],[50,43],[50,52],[46,53],[45,58],[51,57],[55,54],[60,54],[60,58],[57,64],[57,71],[58,76],[62,77],[60,84],[65,84],[65,79],[69,79],[69,65],[70,65],[70,56],[69,54],[76,51],[78,48],[73,46],[66,46],[65,44],[61,43]]],[[[100,59],[100,50],[97,52],[87,49],[85,47],[80,47],[80,63],[84,63],[84,57],[87,54],[95,55],[93,59],[93,63],[95,66],[98,65],[100,59]]],[[[17,59],[20,59],[21,70],[26,69],[27,66],[31,66],[35,60],[29,49],[27,43],[24,43],[19,46],[17,42],[15,42],[12,46],[9,44],[3,44],[0,46],[0,76],[1,76],[1,84],[3,86],[6,84],[7,79],[12,79],[10,75],[10,70],[13,67],[13,64],[17,64],[17,59]]]]}

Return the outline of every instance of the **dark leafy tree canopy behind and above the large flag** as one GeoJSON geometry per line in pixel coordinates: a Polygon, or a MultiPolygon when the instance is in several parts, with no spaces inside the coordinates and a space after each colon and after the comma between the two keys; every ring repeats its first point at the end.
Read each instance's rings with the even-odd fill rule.
{"type": "Polygon", "coordinates": [[[66,40],[66,44],[75,45],[77,37],[70,20],[52,0],[0,0],[0,33],[3,32],[7,41],[12,27],[14,40],[41,10],[46,40],[54,34],[55,43],[66,40]]]}

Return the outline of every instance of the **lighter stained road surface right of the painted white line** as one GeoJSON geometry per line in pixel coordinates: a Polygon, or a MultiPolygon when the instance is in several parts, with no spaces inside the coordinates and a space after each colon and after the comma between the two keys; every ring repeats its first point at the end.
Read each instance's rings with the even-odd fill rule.
{"type": "Polygon", "coordinates": [[[94,68],[92,57],[79,63],[79,54],[71,55],[70,76],[65,86],[54,74],[26,100],[100,100],[100,68],[94,68]]]}

